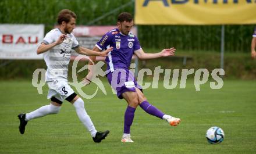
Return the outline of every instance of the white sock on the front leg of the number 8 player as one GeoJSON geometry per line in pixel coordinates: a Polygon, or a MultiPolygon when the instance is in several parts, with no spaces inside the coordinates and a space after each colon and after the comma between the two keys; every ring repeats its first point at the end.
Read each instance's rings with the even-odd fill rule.
{"type": "Polygon", "coordinates": [[[84,109],[84,101],[79,98],[76,102],[73,103],[74,108],[76,108],[77,116],[80,121],[84,124],[87,130],[91,133],[92,137],[95,137],[97,130],[95,130],[93,121],[91,121],[90,116],[86,113],[86,109],[84,109]]]}

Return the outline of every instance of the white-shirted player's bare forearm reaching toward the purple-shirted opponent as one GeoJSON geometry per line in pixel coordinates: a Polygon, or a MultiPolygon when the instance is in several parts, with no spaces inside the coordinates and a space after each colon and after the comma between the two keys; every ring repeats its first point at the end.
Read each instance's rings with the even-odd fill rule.
{"type": "Polygon", "coordinates": [[[75,51],[77,53],[80,53],[81,55],[106,57],[106,56],[108,56],[108,53],[112,51],[112,49],[113,49],[113,47],[108,48],[102,52],[97,52],[97,51],[92,51],[90,49],[79,46],[79,48],[76,48],[75,51]]]}

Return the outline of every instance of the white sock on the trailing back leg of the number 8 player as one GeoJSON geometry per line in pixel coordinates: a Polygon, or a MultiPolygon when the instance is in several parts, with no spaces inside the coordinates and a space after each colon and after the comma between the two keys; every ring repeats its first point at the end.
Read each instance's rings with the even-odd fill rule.
{"type": "Polygon", "coordinates": [[[29,121],[37,117],[46,116],[48,114],[57,114],[59,110],[61,110],[61,106],[55,106],[51,103],[50,105],[42,106],[41,108],[34,110],[33,112],[26,113],[25,120],[29,121]]]}

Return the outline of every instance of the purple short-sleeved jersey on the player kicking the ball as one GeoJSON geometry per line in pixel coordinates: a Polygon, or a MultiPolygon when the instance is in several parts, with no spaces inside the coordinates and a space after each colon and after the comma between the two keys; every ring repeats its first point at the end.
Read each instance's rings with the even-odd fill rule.
{"type": "Polygon", "coordinates": [[[106,57],[108,69],[113,72],[115,69],[129,69],[134,51],[140,49],[140,42],[134,34],[123,35],[115,28],[103,35],[96,46],[101,50],[113,47],[106,57]]]}

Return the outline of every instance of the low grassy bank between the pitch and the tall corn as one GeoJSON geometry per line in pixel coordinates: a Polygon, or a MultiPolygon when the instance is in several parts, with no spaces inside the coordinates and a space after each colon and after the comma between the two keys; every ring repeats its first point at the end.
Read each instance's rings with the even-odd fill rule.
{"type": "MultiPolygon", "coordinates": [[[[148,51],[148,49],[145,49],[145,51],[148,51]]],[[[159,51],[159,49],[154,51],[159,51]]],[[[138,68],[147,68],[154,73],[154,68],[161,66],[161,69],[171,69],[171,75],[173,69],[180,69],[180,73],[182,69],[194,69],[194,72],[198,69],[208,69],[209,73],[211,73],[212,70],[220,68],[220,54],[216,52],[177,52],[176,55],[177,56],[174,58],[146,60],[145,63],[140,60],[138,68]],[[190,59],[187,60],[186,66],[183,66],[183,55],[190,57],[190,59]]],[[[0,63],[4,62],[6,62],[6,60],[0,60],[0,63]]],[[[224,62],[225,78],[256,79],[256,60],[252,60],[250,55],[246,53],[225,53],[224,62]]],[[[70,62],[69,65],[69,78],[72,77],[72,63],[73,62],[70,62]]],[[[132,63],[134,62],[132,61],[132,63]]],[[[84,65],[87,65],[87,62],[79,62],[76,71],[81,69],[84,65]]],[[[35,69],[47,69],[44,60],[12,60],[12,62],[7,65],[0,67],[0,80],[17,78],[27,78],[31,80],[35,69]]],[[[102,69],[105,70],[106,65],[104,65],[102,69]]],[[[77,78],[81,80],[86,74],[87,70],[77,73],[77,78]]],[[[161,73],[160,78],[163,78],[163,76],[164,73],[161,73]]],[[[150,76],[145,77],[150,78],[150,76]]],[[[188,76],[188,78],[193,77],[194,76],[188,76]]]]}

